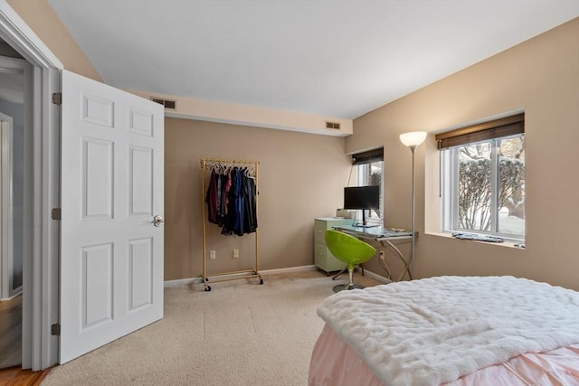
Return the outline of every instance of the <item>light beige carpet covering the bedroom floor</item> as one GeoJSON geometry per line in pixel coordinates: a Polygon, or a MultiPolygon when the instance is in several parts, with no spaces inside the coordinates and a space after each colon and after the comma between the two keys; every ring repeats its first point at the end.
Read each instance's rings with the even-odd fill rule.
{"type": "MultiPolygon", "coordinates": [[[[318,271],[165,289],[165,317],[58,366],[51,385],[299,385],[323,321],[316,308],[345,283],[318,271]]],[[[366,287],[380,284],[356,274],[366,287]]]]}

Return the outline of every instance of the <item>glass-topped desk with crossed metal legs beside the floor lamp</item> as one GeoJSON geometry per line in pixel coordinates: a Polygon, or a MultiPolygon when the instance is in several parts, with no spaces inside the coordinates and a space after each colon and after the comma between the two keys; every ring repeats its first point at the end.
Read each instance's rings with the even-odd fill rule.
{"type": "Polygon", "coordinates": [[[385,257],[380,259],[380,264],[382,268],[388,274],[388,278],[392,281],[401,281],[404,275],[408,274],[410,280],[413,279],[412,273],[412,257],[409,259],[404,259],[404,256],[400,249],[396,247],[396,244],[400,242],[396,241],[410,241],[413,240],[413,233],[409,231],[394,231],[390,228],[384,227],[356,227],[353,225],[338,225],[334,227],[337,231],[343,231],[345,233],[356,236],[358,239],[362,240],[374,240],[380,243],[380,245],[386,249],[390,249],[394,252],[394,256],[403,262],[404,268],[397,280],[392,278],[392,272],[386,264],[385,257]]]}

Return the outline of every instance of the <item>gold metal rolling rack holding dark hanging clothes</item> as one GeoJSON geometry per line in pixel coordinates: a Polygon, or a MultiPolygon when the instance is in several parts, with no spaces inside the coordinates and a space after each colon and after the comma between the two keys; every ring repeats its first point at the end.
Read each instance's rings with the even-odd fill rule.
{"type": "MultiPolygon", "coordinates": [[[[260,249],[259,249],[259,230],[255,230],[255,263],[253,268],[247,268],[232,272],[220,272],[215,274],[207,274],[207,219],[206,219],[206,212],[205,212],[205,194],[206,194],[206,171],[208,168],[212,168],[214,166],[250,166],[252,167],[252,177],[255,178],[255,216],[257,218],[258,214],[258,194],[259,192],[259,161],[248,161],[248,160],[232,160],[232,159],[218,159],[218,158],[203,158],[200,161],[201,169],[203,170],[202,173],[202,223],[203,223],[203,284],[205,291],[211,291],[211,287],[207,284],[209,278],[211,278],[212,282],[220,282],[220,281],[228,281],[228,280],[239,280],[242,278],[259,278],[259,283],[263,284],[263,278],[261,278],[259,272],[260,266],[260,249]]],[[[258,222],[259,224],[259,222],[258,222]]],[[[259,225],[258,225],[259,226],[259,225]]]]}

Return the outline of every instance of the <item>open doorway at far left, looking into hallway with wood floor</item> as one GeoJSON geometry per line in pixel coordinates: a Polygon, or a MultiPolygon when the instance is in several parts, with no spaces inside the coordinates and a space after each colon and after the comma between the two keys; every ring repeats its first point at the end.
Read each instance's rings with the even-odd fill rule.
{"type": "Polygon", "coordinates": [[[0,41],[0,369],[22,363],[24,284],[24,73],[0,41]]]}

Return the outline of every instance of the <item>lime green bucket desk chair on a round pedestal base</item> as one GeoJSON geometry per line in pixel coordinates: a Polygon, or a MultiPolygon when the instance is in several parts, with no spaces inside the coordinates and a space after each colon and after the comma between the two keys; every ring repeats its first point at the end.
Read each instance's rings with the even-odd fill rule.
{"type": "Polygon", "coordinates": [[[334,292],[343,289],[364,288],[354,284],[354,266],[364,264],[369,259],[372,259],[376,249],[367,242],[341,231],[327,230],[324,236],[326,237],[327,249],[332,252],[336,259],[347,264],[347,272],[350,275],[350,282],[337,285],[333,288],[334,292]]]}

